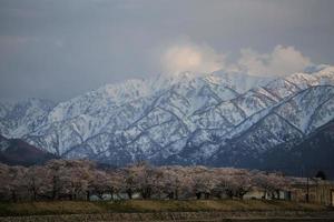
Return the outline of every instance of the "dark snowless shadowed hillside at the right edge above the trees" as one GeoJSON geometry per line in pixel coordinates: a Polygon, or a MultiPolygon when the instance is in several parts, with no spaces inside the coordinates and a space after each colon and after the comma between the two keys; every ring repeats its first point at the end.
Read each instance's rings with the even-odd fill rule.
{"type": "Polygon", "coordinates": [[[296,145],[279,144],[264,153],[263,161],[250,168],[282,170],[302,176],[313,176],[321,169],[334,179],[334,121],[316,129],[296,145]]]}

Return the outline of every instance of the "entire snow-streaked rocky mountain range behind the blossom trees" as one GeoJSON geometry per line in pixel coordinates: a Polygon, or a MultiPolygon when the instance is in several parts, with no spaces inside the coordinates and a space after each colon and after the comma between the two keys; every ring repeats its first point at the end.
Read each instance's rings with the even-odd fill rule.
{"type": "Polygon", "coordinates": [[[250,167],[334,119],[334,67],[285,78],[217,71],[129,80],[53,104],[0,104],[0,133],[63,158],[121,165],[250,167]]]}

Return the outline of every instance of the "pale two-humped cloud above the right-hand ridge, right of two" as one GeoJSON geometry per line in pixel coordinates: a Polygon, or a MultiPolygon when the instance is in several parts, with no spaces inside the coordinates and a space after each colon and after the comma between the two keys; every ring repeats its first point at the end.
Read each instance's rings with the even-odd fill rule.
{"type": "Polygon", "coordinates": [[[311,64],[311,60],[294,47],[278,44],[271,53],[261,54],[252,49],[243,49],[240,53],[233,67],[253,75],[286,75],[311,64]]]}

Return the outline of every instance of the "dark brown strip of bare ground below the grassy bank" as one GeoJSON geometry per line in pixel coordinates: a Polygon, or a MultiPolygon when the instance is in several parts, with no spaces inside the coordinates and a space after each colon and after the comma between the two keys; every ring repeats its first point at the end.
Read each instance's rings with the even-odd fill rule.
{"type": "Polygon", "coordinates": [[[0,222],[334,222],[334,212],[160,212],[4,216],[0,222]]]}

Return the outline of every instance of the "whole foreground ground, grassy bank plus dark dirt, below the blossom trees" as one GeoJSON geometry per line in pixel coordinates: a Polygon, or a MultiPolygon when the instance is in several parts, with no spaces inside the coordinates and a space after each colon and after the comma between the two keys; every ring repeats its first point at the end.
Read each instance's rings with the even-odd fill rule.
{"type": "Polygon", "coordinates": [[[121,201],[0,203],[0,222],[334,221],[331,208],[287,201],[121,201]]]}

